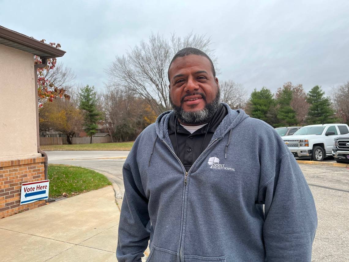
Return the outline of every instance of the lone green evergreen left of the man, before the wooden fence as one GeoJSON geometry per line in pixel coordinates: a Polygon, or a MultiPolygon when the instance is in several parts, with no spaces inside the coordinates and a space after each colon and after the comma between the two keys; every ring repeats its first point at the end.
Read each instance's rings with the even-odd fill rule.
{"type": "Polygon", "coordinates": [[[97,98],[95,87],[81,88],[79,93],[80,109],[84,110],[84,130],[88,136],[91,137],[90,144],[92,143],[92,136],[97,133],[97,122],[102,119],[102,113],[97,110],[97,98]]]}

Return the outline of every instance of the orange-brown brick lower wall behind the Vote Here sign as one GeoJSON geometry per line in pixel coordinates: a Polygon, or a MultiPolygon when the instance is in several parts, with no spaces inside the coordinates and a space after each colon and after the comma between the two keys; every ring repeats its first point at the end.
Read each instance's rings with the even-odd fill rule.
{"type": "Polygon", "coordinates": [[[45,200],[20,205],[22,183],[45,180],[44,157],[0,161],[0,219],[45,205],[45,200]]]}

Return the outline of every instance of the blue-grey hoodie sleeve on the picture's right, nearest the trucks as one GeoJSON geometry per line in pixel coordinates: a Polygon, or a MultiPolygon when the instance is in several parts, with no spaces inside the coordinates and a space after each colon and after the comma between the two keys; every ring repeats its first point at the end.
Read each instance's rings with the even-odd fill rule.
{"type": "Polygon", "coordinates": [[[309,186],[291,153],[276,162],[275,176],[262,188],[259,200],[265,204],[266,261],[310,262],[317,214],[309,186]]]}

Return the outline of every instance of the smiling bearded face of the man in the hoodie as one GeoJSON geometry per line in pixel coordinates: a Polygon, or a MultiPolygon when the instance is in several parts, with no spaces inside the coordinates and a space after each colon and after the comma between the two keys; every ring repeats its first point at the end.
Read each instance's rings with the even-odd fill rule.
{"type": "Polygon", "coordinates": [[[218,79],[203,56],[177,57],[169,68],[170,102],[178,121],[186,125],[208,123],[220,106],[218,79]]]}

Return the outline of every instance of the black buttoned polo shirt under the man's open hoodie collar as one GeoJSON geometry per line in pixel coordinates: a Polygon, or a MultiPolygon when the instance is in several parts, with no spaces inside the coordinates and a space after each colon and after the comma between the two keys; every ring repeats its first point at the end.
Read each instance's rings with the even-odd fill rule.
{"type": "Polygon", "coordinates": [[[186,130],[177,120],[176,128],[177,128],[177,143],[176,143],[176,135],[174,132],[174,121],[176,119],[175,115],[172,114],[169,120],[169,135],[171,139],[171,143],[174,148],[174,152],[177,157],[179,157],[180,161],[183,163],[185,170],[188,172],[190,167],[193,165],[195,160],[201,154],[201,146],[202,151],[208,146],[208,143],[211,141],[213,133],[216,131],[218,125],[222,122],[223,118],[228,114],[227,108],[224,105],[220,105],[216,114],[212,117],[210,126],[208,124],[203,126],[202,128],[196,130],[194,133],[190,133],[186,130]],[[208,127],[208,130],[207,130],[208,127]],[[206,138],[204,141],[205,133],[207,130],[206,138]],[[179,155],[178,155],[179,152],[179,155]]]}

